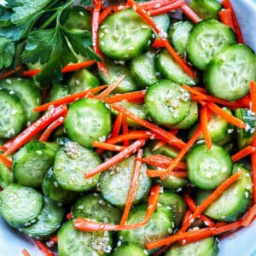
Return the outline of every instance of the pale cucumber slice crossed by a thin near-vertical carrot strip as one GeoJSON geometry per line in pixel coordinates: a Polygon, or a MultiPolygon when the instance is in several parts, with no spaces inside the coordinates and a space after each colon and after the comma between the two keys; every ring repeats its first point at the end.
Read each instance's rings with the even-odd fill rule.
{"type": "MultiPolygon", "coordinates": [[[[131,186],[131,175],[134,163],[135,156],[131,156],[120,162],[117,166],[113,166],[113,169],[102,173],[100,179],[102,196],[113,206],[125,207],[127,195],[131,186]]],[[[147,166],[142,164],[133,204],[139,203],[146,195],[148,195],[151,180],[147,176],[146,171],[147,166]]]]}

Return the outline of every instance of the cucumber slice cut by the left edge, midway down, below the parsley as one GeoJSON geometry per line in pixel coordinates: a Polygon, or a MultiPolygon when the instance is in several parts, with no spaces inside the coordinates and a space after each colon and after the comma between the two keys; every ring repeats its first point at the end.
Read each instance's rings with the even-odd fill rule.
{"type": "Polygon", "coordinates": [[[14,91],[0,90],[0,137],[15,137],[26,124],[26,111],[14,91]]]}

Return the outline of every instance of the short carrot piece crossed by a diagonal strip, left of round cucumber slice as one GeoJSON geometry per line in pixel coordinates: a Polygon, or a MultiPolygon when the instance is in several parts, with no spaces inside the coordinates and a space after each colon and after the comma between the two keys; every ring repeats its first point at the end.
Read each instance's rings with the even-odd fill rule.
{"type": "MultiPolygon", "coordinates": [[[[146,163],[149,166],[155,166],[166,169],[168,168],[168,166],[172,164],[173,159],[166,155],[153,154],[144,157],[142,161],[143,163],[146,163]]],[[[185,170],[187,166],[184,162],[179,161],[176,167],[185,170]]]]}

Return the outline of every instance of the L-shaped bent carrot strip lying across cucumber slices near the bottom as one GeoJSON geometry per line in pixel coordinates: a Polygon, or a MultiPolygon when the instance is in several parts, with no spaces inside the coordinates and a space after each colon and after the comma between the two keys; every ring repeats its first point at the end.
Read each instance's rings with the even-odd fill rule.
{"type": "Polygon", "coordinates": [[[141,228],[148,223],[148,220],[153,215],[159,201],[159,194],[160,194],[160,185],[154,185],[148,197],[148,207],[147,207],[145,218],[140,223],[128,224],[128,225],[102,224],[86,218],[76,218],[73,222],[73,226],[76,230],[81,230],[85,232],[86,231],[104,231],[104,230],[105,231],[134,230],[134,229],[141,228]]]}

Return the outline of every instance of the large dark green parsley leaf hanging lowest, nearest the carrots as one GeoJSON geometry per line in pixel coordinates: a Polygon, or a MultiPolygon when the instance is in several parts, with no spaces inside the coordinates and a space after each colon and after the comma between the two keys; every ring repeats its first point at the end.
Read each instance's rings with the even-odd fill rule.
{"type": "Polygon", "coordinates": [[[24,63],[46,63],[37,76],[38,82],[43,86],[59,83],[62,79],[61,68],[70,62],[77,62],[59,26],[32,32],[21,58],[24,63]]]}

